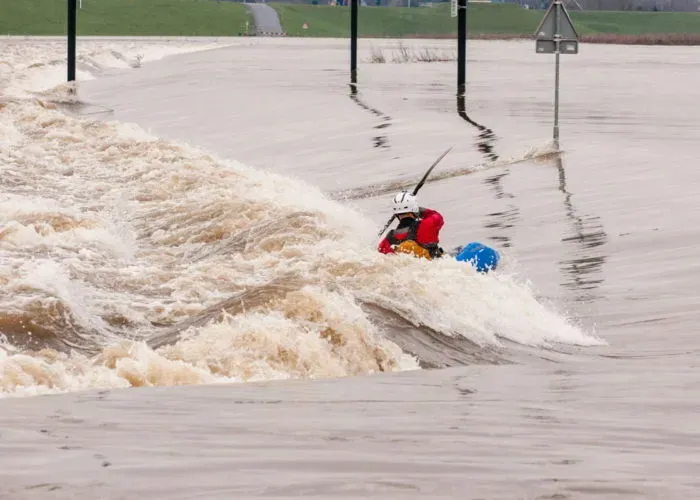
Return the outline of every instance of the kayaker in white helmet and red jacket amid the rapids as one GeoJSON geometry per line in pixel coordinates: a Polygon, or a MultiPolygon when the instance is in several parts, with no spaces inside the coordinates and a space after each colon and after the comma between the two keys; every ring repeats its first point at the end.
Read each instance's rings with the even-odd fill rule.
{"type": "Polygon", "coordinates": [[[426,259],[441,257],[444,251],[440,248],[440,230],[445,224],[442,215],[419,207],[416,197],[408,191],[396,194],[392,204],[399,225],[379,242],[378,250],[384,254],[411,253],[426,259]]]}

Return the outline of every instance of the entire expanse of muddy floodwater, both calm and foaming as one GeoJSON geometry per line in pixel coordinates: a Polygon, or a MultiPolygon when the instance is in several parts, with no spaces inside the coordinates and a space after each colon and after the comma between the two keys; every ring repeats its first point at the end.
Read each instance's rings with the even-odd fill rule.
{"type": "MultiPolygon", "coordinates": [[[[371,43],[402,53],[391,41],[371,43]]],[[[417,52],[428,45],[451,53],[451,42],[416,43],[417,52]]],[[[142,422],[120,438],[131,444],[104,445],[127,463],[141,440],[155,439],[146,434],[210,418],[208,431],[195,433],[202,442],[218,436],[210,446],[239,436],[256,453],[277,450],[260,463],[229,462],[241,474],[294,470],[299,443],[256,434],[283,424],[255,405],[280,403],[285,432],[322,436],[308,444],[315,461],[299,466],[315,474],[265,476],[263,493],[279,497],[463,498],[467,478],[476,497],[672,491],[663,481],[635,483],[645,474],[676,474],[673,491],[693,491],[697,459],[688,450],[700,439],[690,423],[700,319],[693,285],[700,238],[692,229],[700,220],[689,205],[700,180],[693,168],[700,123],[687,112],[700,98],[690,83],[694,49],[586,46],[563,57],[563,152],[556,153],[552,61],[529,42],[470,42],[462,116],[454,62],[371,64],[369,44],[359,89],[350,89],[343,41],[81,40],[73,86],[62,83],[62,42],[4,40],[2,395],[127,388],[111,396],[111,417],[100,413],[106,392],[94,399],[79,392],[75,404],[95,409],[57,399],[62,406],[28,428],[51,419],[58,427],[40,432],[58,444],[56,429],[75,423],[142,422]],[[449,146],[421,204],[445,215],[446,248],[479,240],[502,253],[488,275],[452,259],[376,252],[391,193],[413,186],[449,146]],[[428,370],[461,366],[472,371],[428,370]],[[414,373],[358,377],[402,371],[414,373]],[[243,384],[319,378],[344,380],[265,390],[243,384]],[[204,387],[222,382],[235,383],[244,398],[236,404],[252,409],[227,413],[226,398],[236,393],[216,391],[231,386],[204,387]],[[199,392],[128,389],[179,385],[199,392]],[[164,420],[151,411],[151,397],[168,408],[164,420]],[[66,416],[74,408],[83,408],[79,418],[66,416]],[[677,435],[659,430],[665,412],[688,419],[676,418],[677,435]],[[230,419],[248,430],[231,434],[230,419]],[[654,432],[657,441],[640,444],[654,432]],[[325,456],[334,439],[364,444],[325,456]],[[677,467],[659,466],[674,449],[687,455],[678,455],[677,467]],[[406,450],[439,486],[401,462],[406,450]],[[460,462],[465,450],[473,454],[460,462]],[[381,478],[367,470],[367,453],[378,454],[381,478]],[[552,478],[533,466],[540,459],[545,469],[573,472],[552,478]],[[333,467],[346,474],[347,489],[333,467]],[[502,484],[502,473],[514,486],[502,484]]],[[[45,411],[41,400],[5,401],[7,418],[17,419],[6,426],[19,429],[45,411]]],[[[78,431],[65,432],[67,440],[78,431]]],[[[92,449],[92,431],[85,432],[76,450],[92,449]]],[[[11,439],[35,439],[23,436],[11,439]]],[[[158,453],[169,439],[148,449],[158,453]]],[[[182,439],[173,449],[190,449],[182,439]]],[[[58,453],[59,462],[55,450],[74,449],[50,448],[46,456],[58,453]]],[[[105,453],[94,455],[102,467],[113,461],[105,453]]],[[[31,460],[13,456],[17,470],[31,460]]],[[[212,460],[226,463],[225,456],[212,460]]],[[[111,479],[84,484],[87,462],[72,464],[27,489],[38,488],[37,497],[53,491],[53,477],[65,495],[85,498],[195,496],[176,483],[171,490],[119,480],[115,487],[111,479]],[[76,475],[66,479],[70,467],[76,475]]],[[[211,489],[200,485],[197,494],[217,497],[216,468],[202,467],[211,489]]],[[[243,476],[237,481],[230,491],[261,493],[243,476]]]]}

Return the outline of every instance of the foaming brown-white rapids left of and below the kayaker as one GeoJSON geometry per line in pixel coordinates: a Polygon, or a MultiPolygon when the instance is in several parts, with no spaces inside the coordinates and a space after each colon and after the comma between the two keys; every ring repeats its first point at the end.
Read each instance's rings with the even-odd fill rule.
{"type": "MultiPolygon", "coordinates": [[[[83,42],[78,80],[223,45],[83,42]]],[[[605,343],[517,263],[380,255],[375,224],[313,185],[71,113],[63,43],[5,47],[4,395],[420,369],[368,306],[477,349],[605,343]]]]}

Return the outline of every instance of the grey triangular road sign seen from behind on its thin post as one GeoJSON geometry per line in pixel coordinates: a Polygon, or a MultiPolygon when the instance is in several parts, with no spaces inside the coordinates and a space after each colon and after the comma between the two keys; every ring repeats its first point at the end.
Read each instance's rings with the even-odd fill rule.
{"type": "Polygon", "coordinates": [[[578,54],[578,33],[562,0],[552,0],[535,37],[538,54],[554,54],[554,144],[559,149],[559,54],[578,54]]]}

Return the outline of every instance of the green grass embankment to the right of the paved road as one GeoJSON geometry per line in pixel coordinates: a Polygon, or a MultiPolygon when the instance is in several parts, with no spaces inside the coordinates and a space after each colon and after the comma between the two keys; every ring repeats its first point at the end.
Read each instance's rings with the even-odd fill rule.
{"type": "MultiPolygon", "coordinates": [[[[271,4],[291,36],[348,37],[350,9],[313,5],[271,4]],[[308,29],[302,29],[307,23],[308,29]]],[[[431,8],[363,7],[361,37],[454,37],[456,19],[449,4],[431,8]]],[[[700,13],[689,12],[569,12],[583,42],[700,44],[700,13]]],[[[514,4],[472,4],[467,23],[470,38],[532,38],[544,11],[514,4]]]]}

